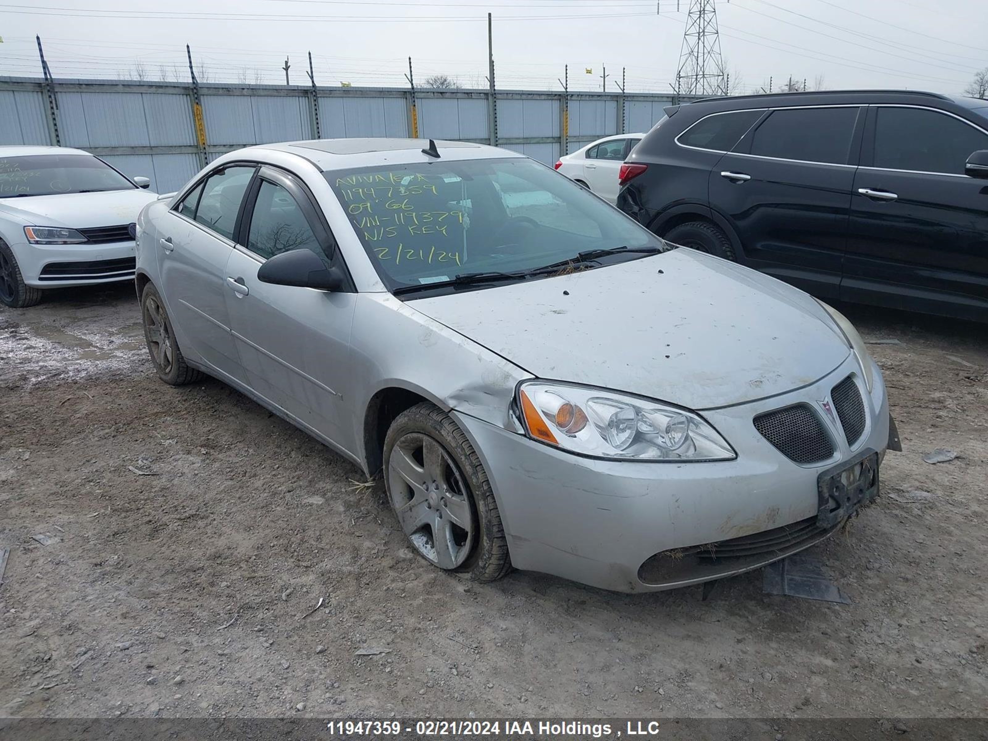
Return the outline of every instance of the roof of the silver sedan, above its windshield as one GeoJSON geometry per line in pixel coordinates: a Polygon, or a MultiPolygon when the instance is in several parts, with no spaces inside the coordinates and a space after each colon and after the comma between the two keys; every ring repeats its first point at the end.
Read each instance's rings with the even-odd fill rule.
{"type": "MultiPolygon", "coordinates": [[[[250,152],[279,152],[302,157],[320,170],[346,170],[353,167],[375,165],[407,164],[433,161],[431,155],[422,150],[429,147],[431,139],[405,138],[350,138],[350,139],[311,139],[307,141],[284,141],[260,144],[238,149],[224,155],[223,159],[242,159],[250,152]]],[[[520,152],[500,147],[476,144],[469,141],[448,141],[436,139],[436,147],[441,159],[498,159],[525,157],[520,152]]]]}

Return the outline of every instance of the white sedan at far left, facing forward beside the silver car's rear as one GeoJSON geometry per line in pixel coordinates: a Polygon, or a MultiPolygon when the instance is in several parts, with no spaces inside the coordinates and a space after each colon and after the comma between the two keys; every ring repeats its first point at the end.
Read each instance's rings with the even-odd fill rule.
{"type": "Polygon", "coordinates": [[[0,303],[44,288],[132,281],[129,224],[157,199],[98,157],[57,146],[0,147],[0,303]]]}

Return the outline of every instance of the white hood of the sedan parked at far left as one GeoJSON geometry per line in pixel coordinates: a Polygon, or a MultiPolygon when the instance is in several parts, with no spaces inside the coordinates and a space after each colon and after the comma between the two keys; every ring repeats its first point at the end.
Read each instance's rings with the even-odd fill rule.
{"type": "Polygon", "coordinates": [[[0,213],[20,219],[25,226],[86,229],[136,221],[140,209],[157,198],[156,193],[134,188],[131,191],[0,199],[0,213]]]}

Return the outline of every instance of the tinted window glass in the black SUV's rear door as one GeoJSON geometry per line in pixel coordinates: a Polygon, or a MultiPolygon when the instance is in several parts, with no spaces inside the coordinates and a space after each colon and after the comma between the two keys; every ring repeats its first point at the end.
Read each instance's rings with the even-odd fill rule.
{"type": "Polygon", "coordinates": [[[774,111],[755,131],[751,153],[844,165],[848,162],[857,120],[857,107],[774,111]]]}

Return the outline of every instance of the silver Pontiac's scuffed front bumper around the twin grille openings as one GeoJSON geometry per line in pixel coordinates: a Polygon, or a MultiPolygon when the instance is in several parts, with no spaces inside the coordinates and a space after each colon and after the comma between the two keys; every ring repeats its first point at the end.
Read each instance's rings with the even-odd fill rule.
{"type": "Polygon", "coordinates": [[[796,391],[702,412],[737,451],[728,461],[584,458],[454,416],[490,477],[516,567],[619,592],[658,591],[758,568],[836,530],[809,527],[819,508],[819,474],[866,449],[881,454],[888,445],[885,386],[877,367],[874,371],[870,396],[860,386],[867,414],[861,439],[849,447],[838,424],[830,430],[837,433],[831,436],[834,455],[812,465],[798,465],[773,448],[752,419],[829,398],[838,382],[860,375],[853,355],[796,391]],[[666,554],[677,561],[677,553],[710,544],[733,548],[736,555],[674,567],[653,558],[666,554]]]}

